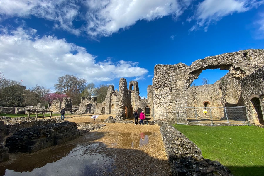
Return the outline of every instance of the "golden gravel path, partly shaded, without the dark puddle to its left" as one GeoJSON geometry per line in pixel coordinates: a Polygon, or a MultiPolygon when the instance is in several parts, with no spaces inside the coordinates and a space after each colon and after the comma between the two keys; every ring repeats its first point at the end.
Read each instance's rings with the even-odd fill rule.
{"type": "MultiPolygon", "coordinates": [[[[100,115],[96,120],[109,116],[100,115]]],[[[94,119],[75,116],[67,120],[85,123],[94,119]]],[[[104,144],[104,150],[99,153],[114,159],[115,169],[105,175],[171,175],[158,125],[106,123],[106,126],[85,135],[85,140],[104,144]]]]}

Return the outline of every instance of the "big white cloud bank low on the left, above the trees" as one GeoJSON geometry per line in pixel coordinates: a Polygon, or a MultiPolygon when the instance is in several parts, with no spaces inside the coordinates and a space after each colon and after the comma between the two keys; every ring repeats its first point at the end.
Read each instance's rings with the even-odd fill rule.
{"type": "Polygon", "coordinates": [[[23,80],[27,87],[36,84],[53,88],[57,78],[64,74],[87,79],[88,82],[111,81],[120,77],[138,77],[148,70],[138,67],[138,62],[110,58],[96,62],[96,56],[65,39],[54,36],[35,36],[36,30],[23,30],[0,35],[0,71],[7,79],[23,80]]]}

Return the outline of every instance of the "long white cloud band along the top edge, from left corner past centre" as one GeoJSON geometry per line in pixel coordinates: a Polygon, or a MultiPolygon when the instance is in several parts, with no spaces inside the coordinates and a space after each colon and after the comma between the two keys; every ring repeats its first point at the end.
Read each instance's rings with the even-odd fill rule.
{"type": "Polygon", "coordinates": [[[30,15],[54,21],[75,35],[109,36],[139,20],[152,21],[163,16],[180,16],[194,0],[0,0],[0,20],[30,15]],[[74,21],[82,21],[75,28],[74,21]]]}

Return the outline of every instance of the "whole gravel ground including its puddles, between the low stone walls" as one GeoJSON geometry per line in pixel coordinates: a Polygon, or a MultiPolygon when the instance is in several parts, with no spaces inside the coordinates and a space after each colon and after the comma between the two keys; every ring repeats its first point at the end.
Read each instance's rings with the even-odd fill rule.
{"type": "MultiPolygon", "coordinates": [[[[115,117],[99,115],[95,123],[103,124],[109,116],[115,117]]],[[[94,123],[88,114],[65,116],[65,120],[94,123]]],[[[171,175],[158,125],[134,123],[106,123],[62,145],[11,153],[0,171],[1,175],[171,175]]]]}

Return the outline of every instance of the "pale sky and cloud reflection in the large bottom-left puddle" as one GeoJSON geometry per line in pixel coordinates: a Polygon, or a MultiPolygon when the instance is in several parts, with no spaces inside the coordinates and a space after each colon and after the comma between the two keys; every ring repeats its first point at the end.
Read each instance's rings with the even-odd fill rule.
{"type": "MultiPolygon", "coordinates": [[[[43,167],[36,167],[30,171],[17,172],[18,170],[23,170],[23,164],[17,165],[15,170],[6,169],[2,175],[102,175],[104,171],[111,172],[111,164],[113,159],[106,157],[105,154],[93,153],[91,150],[100,148],[99,144],[91,144],[88,146],[77,146],[70,153],[62,157],[61,159],[47,163],[43,167]],[[100,173],[101,172],[101,173],[100,173]]],[[[56,153],[56,151],[54,151],[56,153]]],[[[38,156],[31,156],[31,158],[38,156]]],[[[41,160],[42,158],[38,158],[41,160]]],[[[24,160],[27,163],[27,160],[24,160]]],[[[29,164],[29,163],[28,163],[29,164]]],[[[12,168],[12,167],[11,167],[12,168]]],[[[13,168],[14,169],[14,168],[13,168]]],[[[1,172],[3,173],[3,171],[1,172]]]]}

